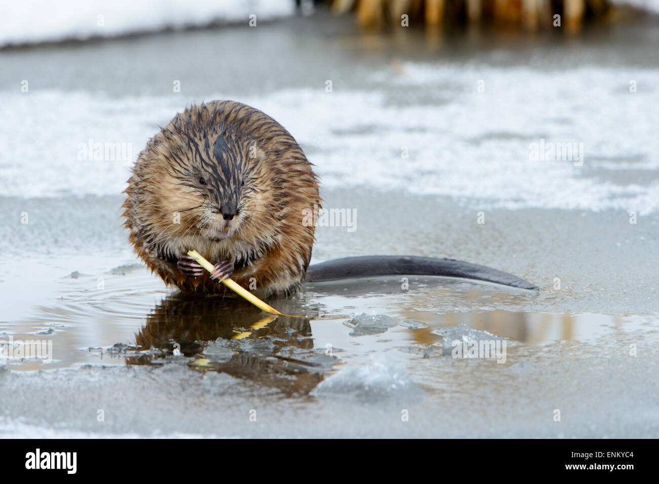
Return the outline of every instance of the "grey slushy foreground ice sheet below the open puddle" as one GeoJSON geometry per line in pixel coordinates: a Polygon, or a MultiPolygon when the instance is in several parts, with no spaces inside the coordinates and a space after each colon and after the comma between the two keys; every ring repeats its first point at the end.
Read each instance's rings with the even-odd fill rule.
{"type": "Polygon", "coordinates": [[[185,365],[0,367],[0,437],[182,437],[190,429],[203,437],[656,437],[656,338],[518,346],[505,365],[418,358],[403,369],[376,359],[328,377],[311,404],[185,365]],[[411,398],[420,392],[413,382],[422,382],[423,398],[411,398]],[[145,412],[145,402],[158,405],[145,412]]]}

